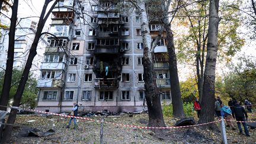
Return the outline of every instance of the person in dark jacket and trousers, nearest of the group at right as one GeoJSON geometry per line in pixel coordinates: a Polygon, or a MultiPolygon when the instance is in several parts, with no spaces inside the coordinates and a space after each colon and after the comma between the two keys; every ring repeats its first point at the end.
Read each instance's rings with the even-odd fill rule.
{"type": "MultiPolygon", "coordinates": [[[[241,122],[238,122],[238,121],[245,121],[245,117],[246,119],[248,118],[247,112],[245,111],[244,107],[241,107],[241,105],[239,105],[238,103],[233,105],[233,111],[235,113],[235,118],[237,121],[236,123],[238,124],[239,132],[242,134],[241,122]]],[[[250,136],[246,123],[242,122],[242,125],[244,126],[245,135],[250,136]]]]}

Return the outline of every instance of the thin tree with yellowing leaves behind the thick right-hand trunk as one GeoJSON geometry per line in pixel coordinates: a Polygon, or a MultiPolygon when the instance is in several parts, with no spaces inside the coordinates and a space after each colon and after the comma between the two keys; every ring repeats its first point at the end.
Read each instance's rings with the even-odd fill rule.
{"type": "MultiPolygon", "coordinates": [[[[184,27],[185,31],[180,34],[180,38],[177,40],[180,52],[178,57],[186,65],[189,63],[189,65],[195,66],[193,69],[196,69],[195,78],[201,103],[210,3],[209,1],[198,1],[190,4],[183,1],[182,4],[185,7],[181,7],[178,11],[176,24],[178,27],[184,27]]],[[[219,8],[222,20],[219,24],[218,60],[225,60],[226,62],[229,62],[231,56],[241,49],[245,41],[238,34],[238,27],[242,25],[241,15],[239,15],[238,9],[227,7],[230,4],[239,7],[241,1],[223,1],[219,8]]]]}

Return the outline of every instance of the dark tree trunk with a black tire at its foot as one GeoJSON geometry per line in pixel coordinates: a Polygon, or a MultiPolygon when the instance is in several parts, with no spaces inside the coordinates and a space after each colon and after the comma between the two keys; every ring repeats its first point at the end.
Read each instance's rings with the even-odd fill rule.
{"type": "MultiPolygon", "coordinates": [[[[171,2],[171,1],[169,1],[171,2]]],[[[166,4],[169,5],[169,4],[166,4]]],[[[164,29],[167,33],[167,50],[168,50],[168,62],[169,62],[169,76],[171,82],[171,97],[172,97],[172,110],[173,116],[183,118],[185,117],[183,110],[183,101],[181,99],[180,92],[180,81],[178,79],[178,68],[177,68],[177,58],[175,54],[174,47],[174,37],[171,31],[171,24],[168,20],[168,9],[164,2],[162,2],[162,11],[164,16],[164,29]]]]}

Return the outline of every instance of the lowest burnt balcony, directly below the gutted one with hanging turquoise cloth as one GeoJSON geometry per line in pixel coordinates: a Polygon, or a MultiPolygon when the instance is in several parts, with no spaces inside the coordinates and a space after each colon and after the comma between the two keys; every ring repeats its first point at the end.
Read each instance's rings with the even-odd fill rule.
{"type": "Polygon", "coordinates": [[[94,88],[118,88],[119,81],[117,78],[96,78],[94,88]]]}

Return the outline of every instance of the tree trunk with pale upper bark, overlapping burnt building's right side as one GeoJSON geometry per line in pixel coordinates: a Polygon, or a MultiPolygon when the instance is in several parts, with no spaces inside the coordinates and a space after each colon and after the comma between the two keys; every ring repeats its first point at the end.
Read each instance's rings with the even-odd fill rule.
{"type": "Polygon", "coordinates": [[[149,33],[148,15],[146,14],[146,7],[144,0],[138,0],[137,6],[140,8],[140,18],[142,20],[141,30],[144,44],[143,49],[143,79],[145,82],[146,102],[149,111],[149,126],[165,127],[164,117],[162,114],[161,101],[158,88],[156,86],[153,59],[151,49],[151,35],[149,33]]]}

